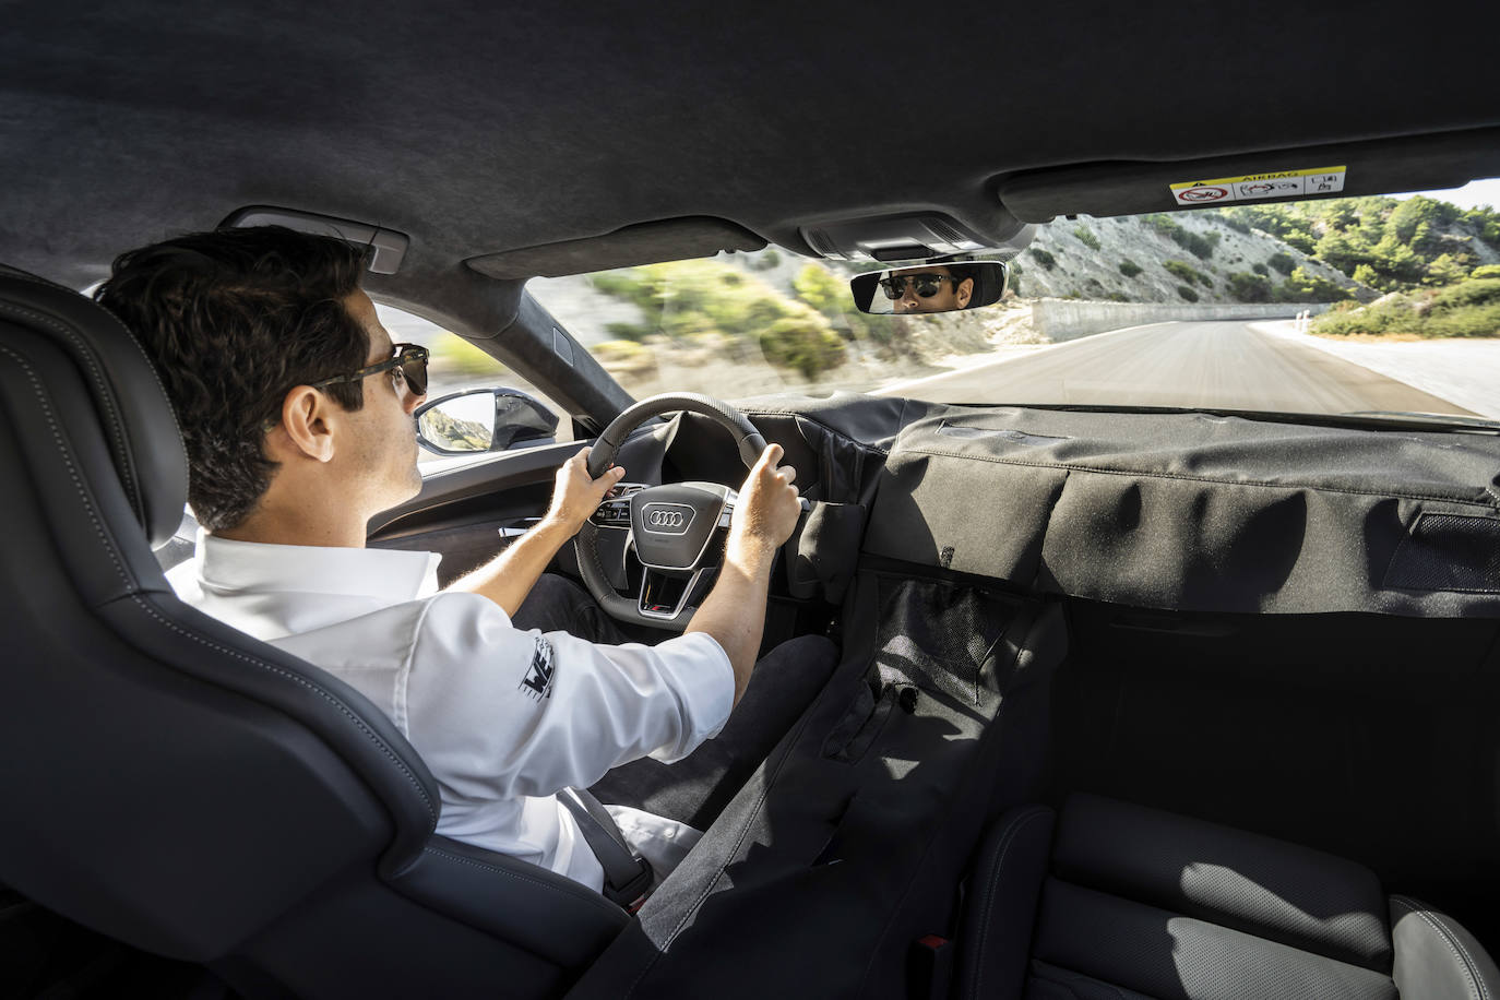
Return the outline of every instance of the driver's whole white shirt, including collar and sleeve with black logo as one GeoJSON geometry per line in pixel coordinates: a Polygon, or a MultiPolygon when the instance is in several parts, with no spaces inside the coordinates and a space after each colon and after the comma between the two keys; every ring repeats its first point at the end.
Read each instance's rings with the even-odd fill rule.
{"type": "MultiPolygon", "coordinates": [[[[717,736],[734,705],[729,657],[705,633],[596,646],[520,631],[486,597],[438,594],[440,559],[200,531],[195,558],[168,580],[183,601],[386,712],[438,781],[440,834],[600,889],[603,868],[556,792],[640,757],[680,760],[717,736]]],[[[698,837],[650,813],[610,811],[658,868],[698,837]]]]}

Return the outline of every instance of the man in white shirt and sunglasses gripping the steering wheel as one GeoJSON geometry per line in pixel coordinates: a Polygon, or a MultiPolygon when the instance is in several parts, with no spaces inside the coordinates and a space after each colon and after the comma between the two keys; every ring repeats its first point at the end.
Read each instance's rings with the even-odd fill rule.
{"type": "MultiPolygon", "coordinates": [[[[800,514],[795,472],[765,448],[712,591],[658,645],[588,642],[570,634],[586,628],[552,627],[573,613],[556,607],[531,616],[548,628],[524,630],[543,570],[624,475],[591,478],[588,448],[558,469],[536,528],[440,592],[440,556],[364,547],[369,519],[422,487],[412,411],[426,391],[426,351],[392,343],[360,289],[364,261],[278,226],[116,259],[96,298],[164,379],[201,525],[194,561],[170,579],[386,712],[440,784],[440,834],[608,889],[586,817],[558,793],[642,757],[681,760],[724,727],[800,514]]],[[[657,879],[700,835],[644,810],[609,814],[657,879]]]]}

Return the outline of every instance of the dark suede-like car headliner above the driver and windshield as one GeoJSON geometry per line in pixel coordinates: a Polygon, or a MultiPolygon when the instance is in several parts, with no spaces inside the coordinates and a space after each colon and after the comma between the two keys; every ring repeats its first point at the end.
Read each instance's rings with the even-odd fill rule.
{"type": "Polygon", "coordinates": [[[1416,10],[8,4],[0,262],[82,286],[279,205],[410,234],[393,282],[420,300],[567,240],[490,273],[806,252],[801,225],[910,210],[1004,235],[1172,210],[1204,171],[1347,163],[1346,195],[1500,174],[1492,72],[1462,54],[1500,7],[1416,10]]]}

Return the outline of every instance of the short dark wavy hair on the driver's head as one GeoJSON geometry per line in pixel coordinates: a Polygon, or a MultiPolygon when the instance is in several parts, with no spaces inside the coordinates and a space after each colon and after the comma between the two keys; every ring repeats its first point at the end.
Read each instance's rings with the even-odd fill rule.
{"type": "MultiPolygon", "coordinates": [[[[369,337],[344,306],[366,256],[282,226],[194,232],[122,253],[94,292],[160,372],[188,448],[188,502],[208,531],[242,523],[270,486],[266,427],[286,391],[368,363],[369,337]]],[[[360,382],[324,391],[364,405],[360,382]]]]}

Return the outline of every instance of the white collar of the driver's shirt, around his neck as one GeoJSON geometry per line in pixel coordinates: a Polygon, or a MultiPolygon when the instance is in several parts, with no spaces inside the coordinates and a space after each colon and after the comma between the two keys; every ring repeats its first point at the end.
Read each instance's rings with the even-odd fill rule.
{"type": "Polygon", "coordinates": [[[234,541],[200,528],[194,559],[202,588],[220,594],[296,591],[400,603],[436,594],[442,556],[400,549],[234,541]]]}

